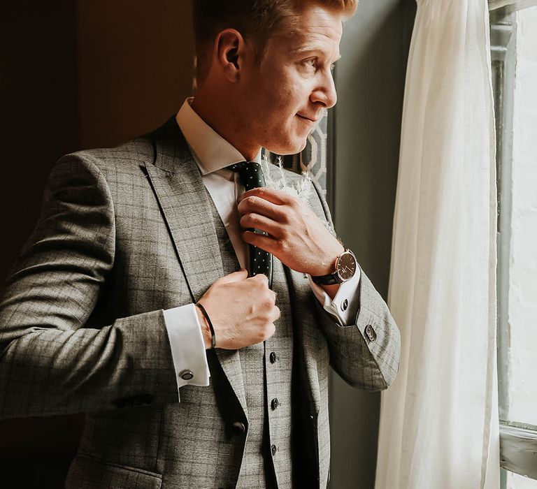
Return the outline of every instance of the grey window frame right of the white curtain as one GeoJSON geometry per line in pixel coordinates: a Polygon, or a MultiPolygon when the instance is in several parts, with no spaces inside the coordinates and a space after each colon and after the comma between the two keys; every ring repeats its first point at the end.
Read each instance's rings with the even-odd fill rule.
{"type": "MultiPolygon", "coordinates": [[[[528,5],[529,6],[529,5],[528,5]]],[[[498,232],[496,268],[500,467],[537,480],[537,426],[507,421],[508,412],[508,289],[513,155],[513,98],[515,85],[515,10],[506,6],[490,12],[490,46],[494,112],[496,115],[496,180],[498,232]]],[[[503,471],[502,471],[503,472],[503,471]]],[[[501,488],[506,488],[506,472],[501,488]]]]}

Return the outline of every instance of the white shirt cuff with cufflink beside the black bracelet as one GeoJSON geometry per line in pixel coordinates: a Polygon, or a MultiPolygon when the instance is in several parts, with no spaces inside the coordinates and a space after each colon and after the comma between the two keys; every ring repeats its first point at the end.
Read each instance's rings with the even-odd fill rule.
{"type": "Polygon", "coordinates": [[[166,309],[164,322],[178,390],[182,386],[208,386],[210,372],[205,342],[194,304],[166,309]]]}

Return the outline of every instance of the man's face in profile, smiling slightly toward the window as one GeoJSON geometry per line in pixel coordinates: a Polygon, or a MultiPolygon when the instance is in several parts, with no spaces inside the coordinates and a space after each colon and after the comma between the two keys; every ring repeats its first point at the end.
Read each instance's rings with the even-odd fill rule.
{"type": "Polygon", "coordinates": [[[248,144],[277,154],[294,154],[322,108],[336,103],[332,78],[339,58],[341,15],[313,3],[304,8],[294,31],[282,31],[267,44],[260,66],[248,65],[241,80],[237,115],[248,144]]]}

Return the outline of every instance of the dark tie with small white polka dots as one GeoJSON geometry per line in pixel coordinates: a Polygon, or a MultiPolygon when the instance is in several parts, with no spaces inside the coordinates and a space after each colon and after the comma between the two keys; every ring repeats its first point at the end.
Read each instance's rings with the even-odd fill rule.
{"type": "MultiPolygon", "coordinates": [[[[242,161],[228,166],[227,169],[238,173],[241,184],[244,185],[246,191],[265,187],[265,177],[261,165],[255,161],[242,161]]],[[[250,231],[267,235],[259,229],[250,229],[250,231]]],[[[264,273],[268,278],[268,284],[272,284],[272,255],[257,246],[248,245],[248,248],[250,251],[250,277],[264,273]]]]}

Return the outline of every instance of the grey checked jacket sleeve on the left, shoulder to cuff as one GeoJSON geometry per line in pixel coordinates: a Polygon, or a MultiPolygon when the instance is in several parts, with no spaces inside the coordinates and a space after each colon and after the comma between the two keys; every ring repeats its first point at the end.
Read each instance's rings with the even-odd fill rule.
{"type": "Polygon", "coordinates": [[[114,255],[108,184],[65,156],[1,293],[0,418],[178,400],[162,310],[85,328],[114,255]]]}

